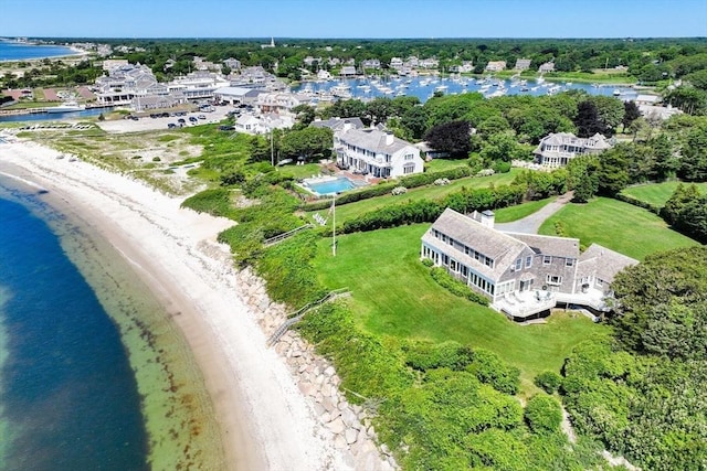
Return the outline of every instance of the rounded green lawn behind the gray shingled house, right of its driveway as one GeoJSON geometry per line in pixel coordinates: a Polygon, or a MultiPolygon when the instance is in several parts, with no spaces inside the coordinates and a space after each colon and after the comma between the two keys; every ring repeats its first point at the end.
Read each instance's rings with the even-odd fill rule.
{"type": "Polygon", "coordinates": [[[549,217],[539,233],[555,235],[558,221],[568,237],[579,238],[584,246],[597,243],[639,260],[658,250],[697,245],[650,211],[605,197],[569,203],[549,217]]]}

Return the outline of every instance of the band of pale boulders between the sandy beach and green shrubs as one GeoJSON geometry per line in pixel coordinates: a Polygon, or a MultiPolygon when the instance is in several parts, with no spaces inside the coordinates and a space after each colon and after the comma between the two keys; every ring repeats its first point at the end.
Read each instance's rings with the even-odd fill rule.
{"type": "MultiPolygon", "coordinates": [[[[255,314],[266,335],[287,319],[283,304],[272,302],[264,281],[250,268],[236,275],[243,301],[255,314]]],[[[333,440],[342,461],[356,471],[392,471],[400,467],[384,445],[377,446],[370,416],[361,406],[350,404],[339,390],[341,379],[334,365],[316,354],[314,346],[297,332],[287,331],[274,345],[286,362],[314,416],[319,433],[333,440]]]]}

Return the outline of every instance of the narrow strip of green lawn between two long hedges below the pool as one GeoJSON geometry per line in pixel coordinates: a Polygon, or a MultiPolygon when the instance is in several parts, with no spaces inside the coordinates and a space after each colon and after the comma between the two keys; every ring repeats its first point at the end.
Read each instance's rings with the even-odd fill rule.
{"type": "MultiPolygon", "coordinates": [[[[490,176],[467,176],[465,179],[454,180],[452,183],[444,186],[429,185],[429,186],[411,189],[411,190],[408,190],[408,193],[400,196],[393,196],[391,194],[387,194],[383,196],[377,196],[368,200],[358,201],[356,203],[337,205],[336,207],[337,225],[339,223],[344,223],[347,220],[356,218],[361,214],[368,213],[370,211],[379,210],[381,207],[386,207],[391,204],[403,203],[407,201],[436,200],[447,195],[449,193],[460,190],[462,186],[483,188],[483,186],[489,186],[492,184],[493,185],[509,184],[519,172],[521,172],[521,170],[511,169],[510,172],[508,173],[498,173],[490,176]]],[[[312,218],[312,215],[314,213],[317,213],[317,211],[309,212],[307,216],[312,218]]]]}

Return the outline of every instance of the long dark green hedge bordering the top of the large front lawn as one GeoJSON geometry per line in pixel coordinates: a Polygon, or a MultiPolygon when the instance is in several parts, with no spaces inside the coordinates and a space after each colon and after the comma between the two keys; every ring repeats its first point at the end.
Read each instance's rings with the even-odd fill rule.
{"type": "Polygon", "coordinates": [[[471,213],[474,210],[495,210],[520,203],[524,194],[525,188],[519,185],[462,190],[449,194],[440,201],[410,201],[371,211],[356,220],[346,221],[341,226],[341,232],[350,234],[404,224],[432,223],[440,217],[445,207],[451,207],[460,213],[471,213]]]}

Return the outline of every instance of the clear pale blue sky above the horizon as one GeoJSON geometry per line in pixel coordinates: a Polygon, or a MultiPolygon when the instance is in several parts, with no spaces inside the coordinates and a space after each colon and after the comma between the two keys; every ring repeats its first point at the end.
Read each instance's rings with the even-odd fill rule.
{"type": "Polygon", "coordinates": [[[0,0],[0,36],[707,36],[707,0],[0,0]]]}

